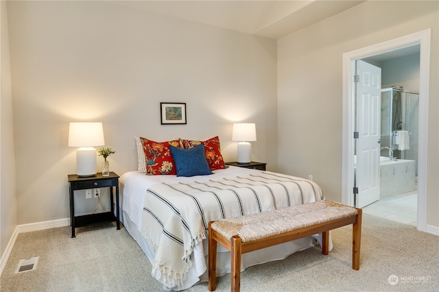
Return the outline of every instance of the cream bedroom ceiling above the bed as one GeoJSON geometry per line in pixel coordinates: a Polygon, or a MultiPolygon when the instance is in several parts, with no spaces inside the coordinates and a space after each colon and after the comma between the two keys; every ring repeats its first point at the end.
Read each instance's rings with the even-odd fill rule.
{"type": "Polygon", "coordinates": [[[111,1],[136,10],[266,38],[281,38],[364,1],[111,1]]]}

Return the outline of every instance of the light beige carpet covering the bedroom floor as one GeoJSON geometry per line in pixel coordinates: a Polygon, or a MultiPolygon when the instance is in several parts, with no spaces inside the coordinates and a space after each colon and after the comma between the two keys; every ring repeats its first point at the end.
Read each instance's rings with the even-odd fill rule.
{"type": "MultiPolygon", "coordinates": [[[[439,291],[439,236],[363,214],[359,271],[352,269],[352,227],[332,231],[334,248],[318,247],[241,273],[241,291],[439,291]]],[[[113,224],[19,234],[0,291],[163,291],[152,266],[124,228],[113,224]],[[14,273],[39,256],[34,271],[14,273]]],[[[209,291],[200,283],[187,291],[209,291]]],[[[230,274],[216,291],[230,291],[230,274]]]]}

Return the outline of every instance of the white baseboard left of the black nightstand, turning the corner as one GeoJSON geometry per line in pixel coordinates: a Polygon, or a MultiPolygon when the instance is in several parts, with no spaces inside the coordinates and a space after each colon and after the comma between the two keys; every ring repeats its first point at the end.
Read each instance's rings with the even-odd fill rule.
{"type": "Polygon", "coordinates": [[[49,229],[49,228],[64,227],[64,226],[70,226],[70,218],[22,224],[16,226],[8,242],[8,246],[6,246],[5,252],[1,255],[0,258],[0,276],[1,273],[3,273],[3,269],[5,268],[6,263],[8,262],[8,258],[12,252],[12,247],[14,247],[16,238],[17,236],[19,236],[20,233],[38,231],[38,230],[49,229]]]}

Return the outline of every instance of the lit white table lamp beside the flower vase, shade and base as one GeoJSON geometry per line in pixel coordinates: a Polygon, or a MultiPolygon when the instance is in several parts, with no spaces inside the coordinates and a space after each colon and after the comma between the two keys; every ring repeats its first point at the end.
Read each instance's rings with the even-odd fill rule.
{"type": "Polygon", "coordinates": [[[76,150],[76,174],[93,176],[96,171],[96,149],[93,146],[104,145],[102,123],[70,123],[69,147],[76,150]]]}

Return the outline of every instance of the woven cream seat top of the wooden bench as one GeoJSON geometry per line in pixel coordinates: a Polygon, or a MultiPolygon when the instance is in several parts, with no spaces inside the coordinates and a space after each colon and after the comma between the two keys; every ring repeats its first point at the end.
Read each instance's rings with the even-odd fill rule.
{"type": "Polygon", "coordinates": [[[226,239],[238,235],[242,242],[249,242],[355,216],[357,213],[353,207],[324,199],[268,212],[219,219],[211,224],[211,228],[226,239]]]}

